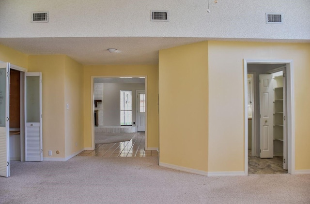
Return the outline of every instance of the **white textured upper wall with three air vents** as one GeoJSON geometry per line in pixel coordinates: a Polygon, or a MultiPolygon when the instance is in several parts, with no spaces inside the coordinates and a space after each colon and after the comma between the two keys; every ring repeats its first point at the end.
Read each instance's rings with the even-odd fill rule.
{"type": "Polygon", "coordinates": [[[207,0],[0,0],[0,37],[310,39],[309,0],[209,2],[211,13],[207,0]],[[170,21],[151,22],[151,10],[168,10],[170,21]],[[31,23],[34,11],[49,22],[31,23]],[[267,12],[284,23],[266,24],[267,12]]]}

